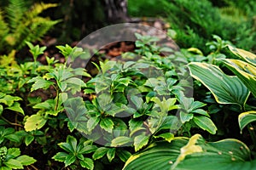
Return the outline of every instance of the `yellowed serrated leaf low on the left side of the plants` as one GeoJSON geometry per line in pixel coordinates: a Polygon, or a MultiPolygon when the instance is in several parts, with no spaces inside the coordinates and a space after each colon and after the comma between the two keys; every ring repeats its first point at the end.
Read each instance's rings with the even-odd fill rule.
{"type": "Polygon", "coordinates": [[[29,132],[44,127],[46,122],[47,120],[44,118],[44,116],[38,114],[32,115],[26,119],[24,128],[26,132],[29,132]]]}

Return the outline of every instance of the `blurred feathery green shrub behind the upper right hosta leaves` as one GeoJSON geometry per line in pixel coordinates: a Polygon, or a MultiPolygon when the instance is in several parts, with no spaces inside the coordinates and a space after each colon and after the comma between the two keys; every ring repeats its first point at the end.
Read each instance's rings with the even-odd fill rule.
{"type": "MultiPolygon", "coordinates": [[[[208,0],[203,1],[161,1],[167,13],[172,30],[177,32],[174,38],[183,48],[202,48],[212,35],[230,40],[237,47],[255,50],[255,16],[253,1],[250,3],[227,3],[216,8],[208,0]],[[251,4],[251,5],[250,5],[251,4]]],[[[159,6],[159,5],[158,5],[159,6]]]]}

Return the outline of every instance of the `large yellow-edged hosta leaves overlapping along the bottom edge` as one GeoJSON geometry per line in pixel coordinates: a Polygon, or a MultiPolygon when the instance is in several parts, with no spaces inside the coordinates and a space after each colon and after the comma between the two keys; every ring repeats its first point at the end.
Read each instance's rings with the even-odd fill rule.
{"type": "Polygon", "coordinates": [[[131,156],[123,170],[240,170],[256,168],[247,145],[236,139],[208,142],[195,134],[190,139],[158,142],[131,156]]]}

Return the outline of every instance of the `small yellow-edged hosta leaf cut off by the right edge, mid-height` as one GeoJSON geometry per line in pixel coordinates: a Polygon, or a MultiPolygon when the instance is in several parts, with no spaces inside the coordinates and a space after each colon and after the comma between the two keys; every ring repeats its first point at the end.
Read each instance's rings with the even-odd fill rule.
{"type": "Polygon", "coordinates": [[[247,126],[250,122],[256,121],[256,111],[243,112],[238,116],[240,130],[247,126]]]}

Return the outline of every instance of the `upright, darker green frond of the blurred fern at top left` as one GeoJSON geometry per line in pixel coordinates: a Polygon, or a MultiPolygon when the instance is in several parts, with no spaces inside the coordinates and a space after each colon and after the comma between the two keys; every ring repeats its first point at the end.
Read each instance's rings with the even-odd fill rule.
{"type": "Polygon", "coordinates": [[[11,32],[17,31],[17,26],[22,24],[22,18],[27,9],[25,0],[9,0],[6,15],[11,32]]]}

